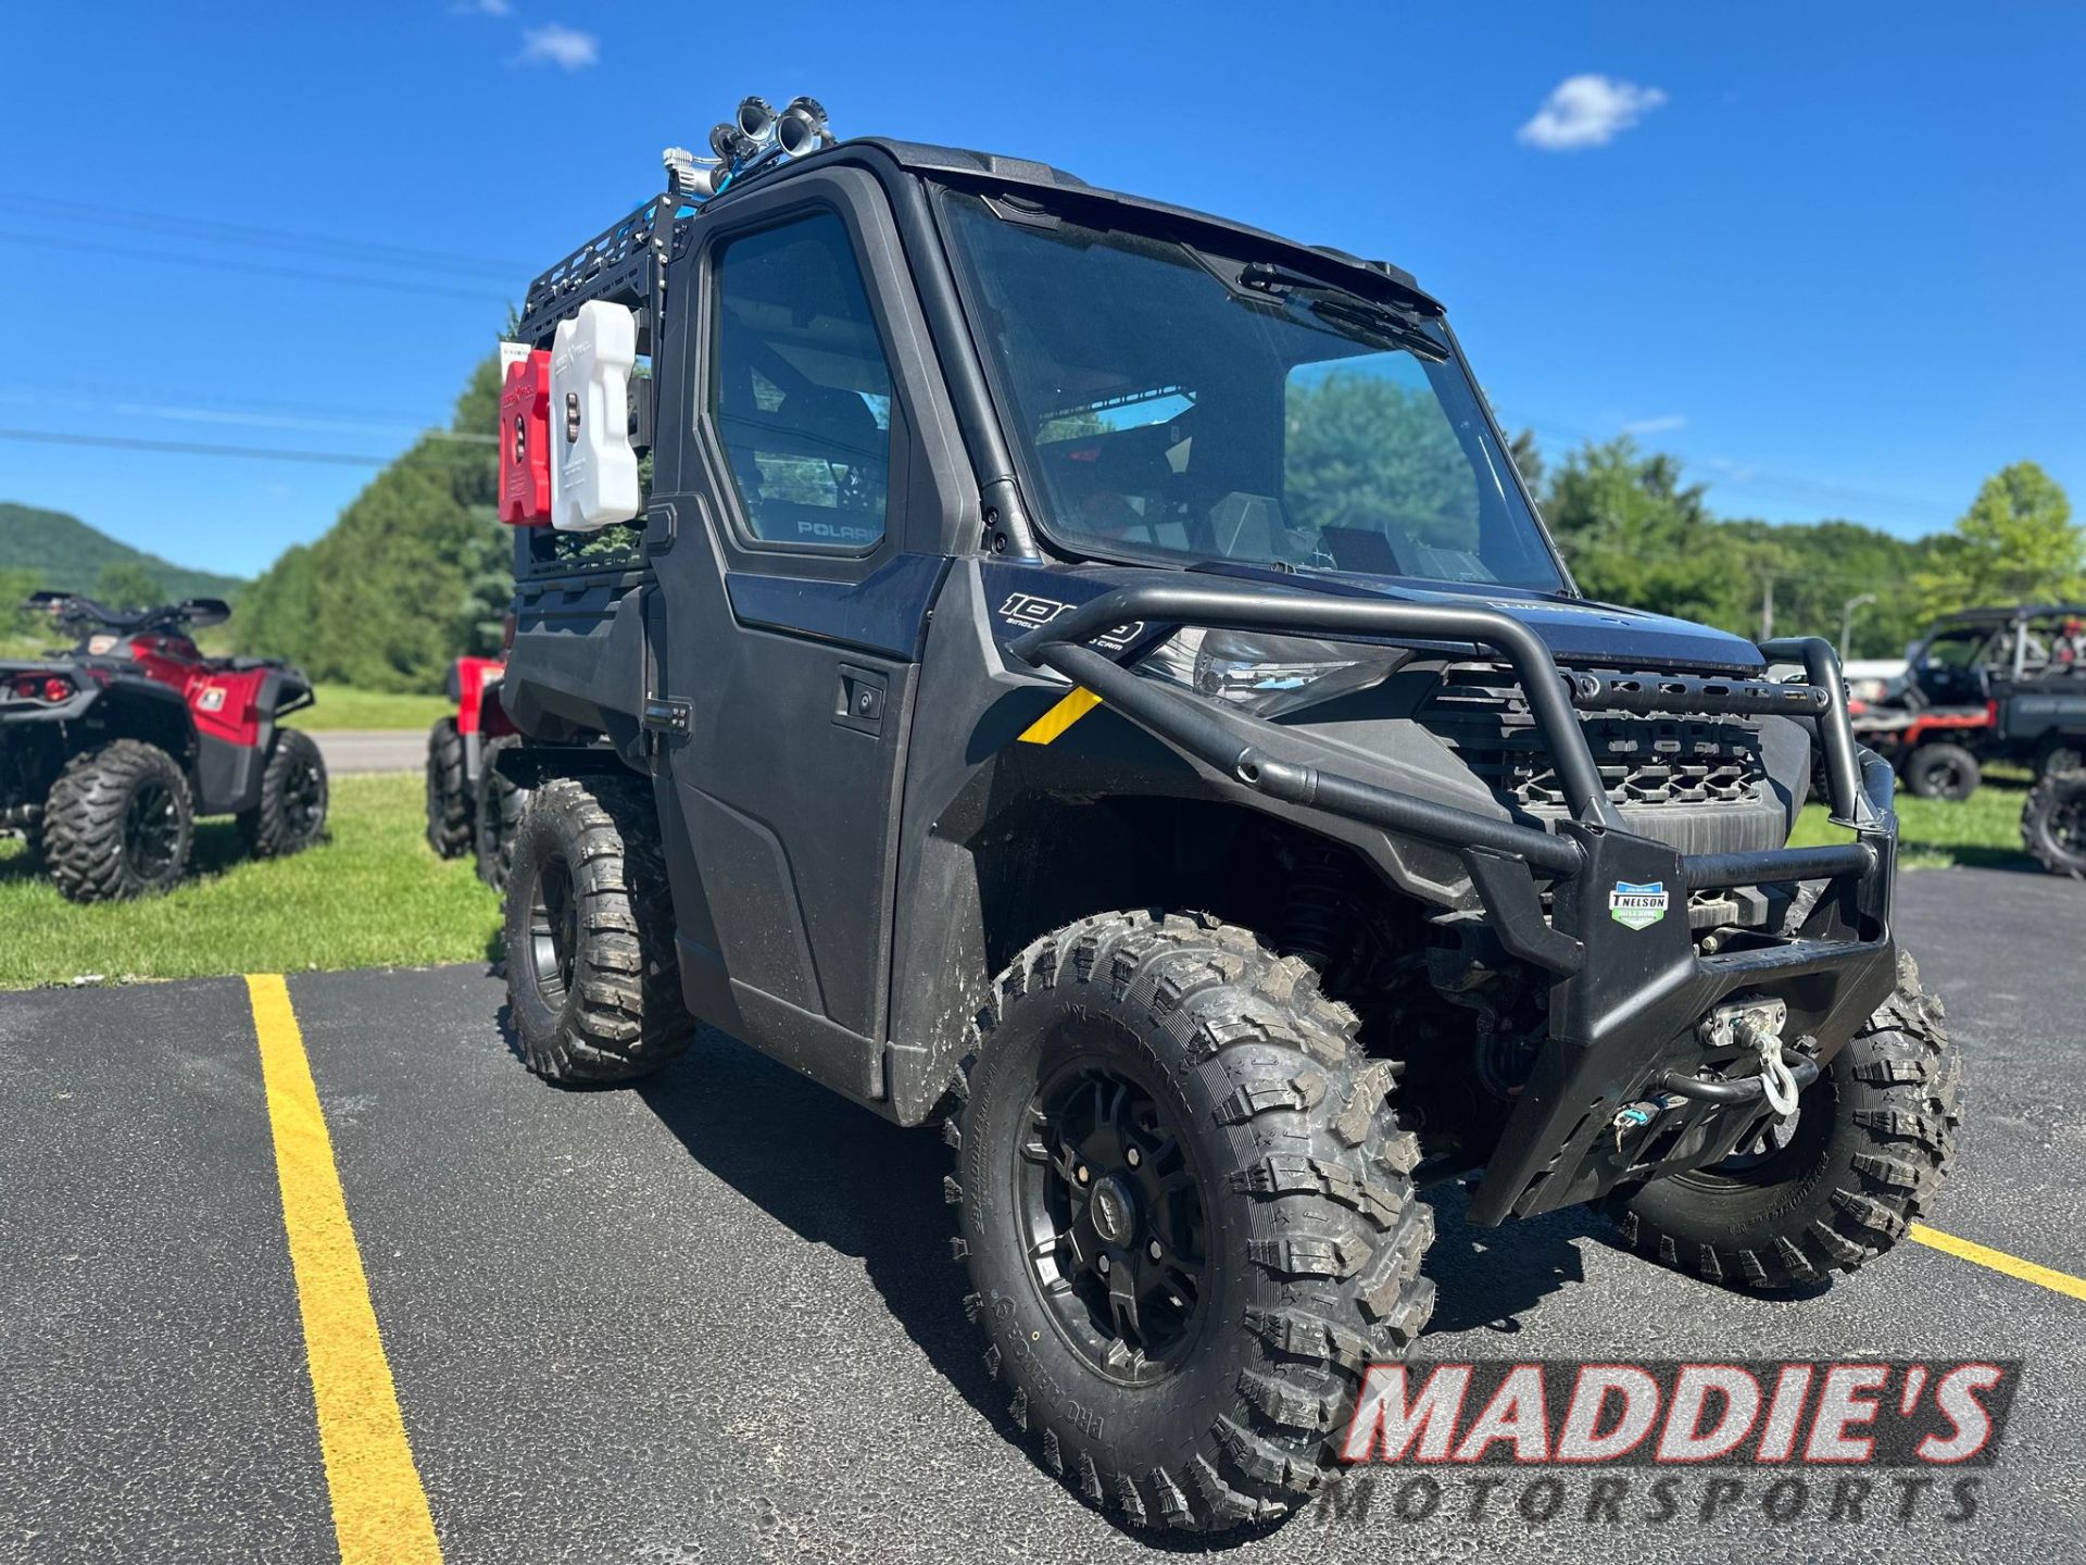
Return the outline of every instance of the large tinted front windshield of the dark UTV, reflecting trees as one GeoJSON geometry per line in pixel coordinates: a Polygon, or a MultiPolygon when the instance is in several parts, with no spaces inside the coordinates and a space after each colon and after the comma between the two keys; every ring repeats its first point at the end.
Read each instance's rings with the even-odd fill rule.
{"type": "Polygon", "coordinates": [[[1058,545],[1564,588],[1439,326],[1208,244],[947,211],[1058,545]]]}

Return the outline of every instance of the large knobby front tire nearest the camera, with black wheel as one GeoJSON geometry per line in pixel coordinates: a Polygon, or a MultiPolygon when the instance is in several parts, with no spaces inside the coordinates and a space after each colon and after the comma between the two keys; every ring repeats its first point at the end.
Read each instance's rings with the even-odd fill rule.
{"type": "Polygon", "coordinates": [[[1354,1033],[1302,960],[1212,918],[1145,912],[1037,941],[976,1016],[945,1125],[966,1308],[1043,1465],[1131,1525],[1218,1532],[1325,1486],[1364,1367],[1404,1356],[1433,1308],[1418,1141],[1389,1106],[1398,1066],[1354,1033]],[[1074,1139],[1106,1123],[1103,1098],[1133,1104],[1114,1154],[1101,1131],[1074,1139]],[[1177,1194],[1139,1196],[1139,1177],[1177,1194]],[[1131,1191],[1135,1219],[1106,1225],[1110,1283],[1093,1260],[1110,1254],[1106,1181],[1131,1191]],[[1087,1217],[1068,1227],[1087,1225],[1085,1269],[1049,1239],[1081,1187],[1087,1217]],[[1187,1235],[1179,1191],[1202,1217],[1187,1235]],[[1162,1281],[1191,1271],[1199,1287],[1139,1306],[1139,1358],[1095,1296],[1135,1290],[1147,1246],[1181,1252],[1162,1281]]]}

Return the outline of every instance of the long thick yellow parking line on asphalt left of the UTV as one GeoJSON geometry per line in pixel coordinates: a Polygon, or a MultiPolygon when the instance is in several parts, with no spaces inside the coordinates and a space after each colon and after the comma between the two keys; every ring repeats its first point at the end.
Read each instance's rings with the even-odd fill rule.
{"type": "Polygon", "coordinates": [[[246,974],[261,1039],[261,1079],[275,1133],[282,1225],[290,1235],[296,1302],[305,1315],[305,1358],[319,1411],[319,1450],[334,1498],[342,1565],[440,1565],[428,1494],[398,1417],[378,1313],[369,1304],[363,1256],[334,1169],[311,1060],[275,972],[246,974]]]}

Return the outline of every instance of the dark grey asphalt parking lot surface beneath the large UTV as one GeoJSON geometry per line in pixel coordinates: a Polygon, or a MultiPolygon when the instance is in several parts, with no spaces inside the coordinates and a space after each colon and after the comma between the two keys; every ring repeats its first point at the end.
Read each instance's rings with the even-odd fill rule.
{"type": "MultiPolygon", "coordinates": [[[[2071,1275],[2082,914],[2073,883],[1925,870],[1900,916],[1967,1056],[1930,1219],[2071,1275]]],[[[715,1035],[634,1091],[551,1089],[480,968],[288,991],[444,1559],[1156,1552],[1003,1438],[935,1135],[715,1035]]],[[[1435,1200],[1425,1358],[2023,1358],[1978,1515],[1590,1534],[1571,1511],[1375,1509],[1306,1513],[1233,1559],[2086,1557],[2086,1302],[1919,1244],[1754,1300],[1623,1254],[1590,1212],[1464,1229],[1460,1198],[1435,1200]]],[[[298,1290],[244,981],[0,997],[0,1561],[338,1557],[298,1290]]]]}

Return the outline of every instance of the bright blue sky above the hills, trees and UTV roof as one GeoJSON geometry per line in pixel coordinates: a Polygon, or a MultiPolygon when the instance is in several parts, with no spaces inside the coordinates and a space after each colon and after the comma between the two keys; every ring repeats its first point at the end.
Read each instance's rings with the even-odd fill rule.
{"type": "MultiPolygon", "coordinates": [[[[19,6],[0,430],[388,457],[661,146],[811,92],[1393,259],[1510,426],[1729,515],[2086,507],[2082,79],[2059,4],[19,6]]],[[[238,574],[369,472],[0,438],[0,499],[238,574]]]]}

